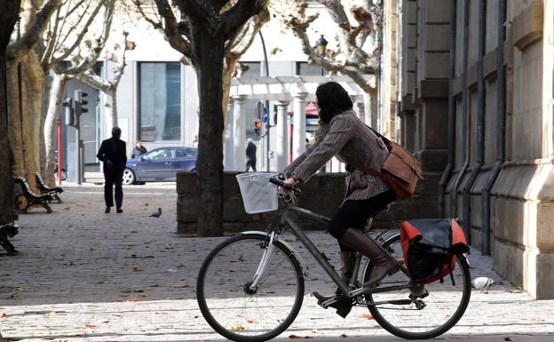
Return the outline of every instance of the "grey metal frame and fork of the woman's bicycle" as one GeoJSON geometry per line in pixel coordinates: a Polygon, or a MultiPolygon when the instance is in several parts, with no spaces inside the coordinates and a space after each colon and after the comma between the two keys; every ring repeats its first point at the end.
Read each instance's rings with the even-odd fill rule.
{"type": "MultiPolygon", "coordinates": [[[[330,219],[327,217],[320,215],[318,213],[315,213],[313,211],[308,211],[303,208],[297,207],[296,205],[292,204],[286,204],[286,207],[283,211],[283,214],[281,216],[281,227],[290,227],[291,233],[297,237],[297,239],[300,241],[300,243],[305,245],[305,248],[312,254],[313,258],[317,261],[318,264],[325,270],[325,272],[328,274],[328,276],[333,280],[333,282],[336,283],[338,288],[344,293],[344,295],[348,296],[349,298],[355,298],[363,294],[368,293],[376,293],[376,292],[386,292],[390,290],[401,290],[401,289],[407,289],[409,288],[409,284],[402,284],[397,286],[387,286],[382,287],[379,289],[375,288],[367,288],[367,287],[361,287],[360,289],[351,290],[348,282],[341,279],[340,275],[336,273],[335,268],[328,262],[328,258],[323,254],[310,240],[310,238],[305,235],[304,231],[301,227],[298,227],[297,223],[294,219],[292,219],[289,215],[290,211],[295,211],[298,214],[308,218],[313,219],[316,221],[320,221],[322,223],[328,223],[330,219]]],[[[245,232],[247,233],[247,232],[245,232]]],[[[267,269],[267,266],[269,265],[269,261],[271,260],[271,256],[273,253],[273,242],[279,241],[279,235],[281,234],[281,231],[273,230],[269,235],[269,242],[268,242],[268,248],[264,251],[264,254],[260,260],[259,265],[257,266],[256,274],[253,277],[252,282],[250,283],[250,290],[255,290],[259,282],[261,282],[261,279],[263,278],[265,274],[265,270],[267,269]]],[[[378,245],[378,244],[377,244],[378,245]]],[[[300,258],[297,251],[294,251],[292,248],[290,248],[291,251],[295,254],[297,258],[300,258]]],[[[361,258],[361,257],[360,257],[361,258]]],[[[357,270],[360,266],[360,258],[357,259],[356,263],[358,264],[358,267],[356,267],[355,274],[352,274],[352,278],[357,277],[357,270]]],[[[303,260],[299,260],[303,265],[305,265],[303,260]]],[[[401,265],[398,263],[398,266],[400,268],[400,271],[408,274],[408,270],[404,265],[401,265]]],[[[364,274],[365,275],[365,274],[364,274]]],[[[332,303],[329,303],[332,304],[332,303]]]]}

